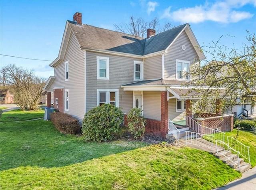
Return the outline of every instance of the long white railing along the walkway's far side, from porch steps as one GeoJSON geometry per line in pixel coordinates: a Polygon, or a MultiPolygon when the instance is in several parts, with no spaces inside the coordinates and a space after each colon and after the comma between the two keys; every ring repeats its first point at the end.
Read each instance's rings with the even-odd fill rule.
{"type": "Polygon", "coordinates": [[[186,116],[186,125],[188,125],[188,127],[193,129],[196,133],[200,133],[202,135],[212,135],[214,139],[225,141],[225,133],[216,129],[202,126],[188,115],[186,116]]]}

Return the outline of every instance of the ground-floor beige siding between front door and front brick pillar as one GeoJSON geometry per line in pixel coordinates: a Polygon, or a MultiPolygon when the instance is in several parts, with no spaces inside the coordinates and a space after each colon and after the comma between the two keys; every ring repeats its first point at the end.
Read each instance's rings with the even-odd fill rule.
{"type": "Polygon", "coordinates": [[[160,91],[143,92],[143,116],[161,121],[161,93],[160,91]]]}

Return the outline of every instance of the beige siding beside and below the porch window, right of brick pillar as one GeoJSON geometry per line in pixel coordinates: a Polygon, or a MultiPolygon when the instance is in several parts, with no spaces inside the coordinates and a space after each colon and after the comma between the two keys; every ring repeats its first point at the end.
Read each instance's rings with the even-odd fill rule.
{"type": "Polygon", "coordinates": [[[172,121],[186,119],[186,111],[176,112],[176,99],[172,98],[168,101],[168,116],[172,121]]]}

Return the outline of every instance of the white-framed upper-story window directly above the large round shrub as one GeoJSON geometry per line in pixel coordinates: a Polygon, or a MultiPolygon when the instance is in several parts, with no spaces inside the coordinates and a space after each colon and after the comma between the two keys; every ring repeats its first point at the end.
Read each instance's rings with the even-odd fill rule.
{"type": "Polygon", "coordinates": [[[109,58],[97,56],[97,79],[109,80],[109,58]]]}

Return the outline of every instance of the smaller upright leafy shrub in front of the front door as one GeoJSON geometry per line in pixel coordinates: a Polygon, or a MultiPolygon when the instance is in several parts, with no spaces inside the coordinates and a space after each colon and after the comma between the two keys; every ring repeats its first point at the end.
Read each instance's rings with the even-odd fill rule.
{"type": "Polygon", "coordinates": [[[133,108],[127,115],[128,130],[134,139],[143,138],[145,132],[146,119],[142,116],[142,110],[133,108]]]}

